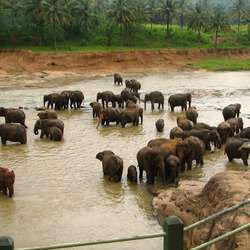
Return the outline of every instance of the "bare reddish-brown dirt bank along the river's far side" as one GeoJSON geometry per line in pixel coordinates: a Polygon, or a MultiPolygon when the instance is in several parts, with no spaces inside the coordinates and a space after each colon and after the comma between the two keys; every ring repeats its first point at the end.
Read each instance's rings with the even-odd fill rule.
{"type": "Polygon", "coordinates": [[[0,88],[48,87],[70,84],[88,77],[119,73],[153,74],[195,70],[188,62],[204,57],[250,58],[250,49],[155,50],[118,52],[35,53],[0,51],[0,88]]]}

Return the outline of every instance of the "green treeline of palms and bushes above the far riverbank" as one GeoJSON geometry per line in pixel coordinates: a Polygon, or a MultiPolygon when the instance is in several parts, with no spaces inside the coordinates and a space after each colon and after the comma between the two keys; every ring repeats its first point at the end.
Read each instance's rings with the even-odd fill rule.
{"type": "Polygon", "coordinates": [[[146,41],[154,46],[157,39],[162,47],[190,43],[200,47],[208,43],[204,34],[212,34],[216,47],[220,34],[230,32],[232,25],[237,26],[235,37],[239,36],[240,44],[249,45],[250,0],[230,0],[226,8],[218,2],[0,0],[0,47],[53,44],[57,50],[58,42],[143,47],[146,41]],[[164,33],[160,33],[159,25],[164,25],[164,33]],[[245,33],[240,36],[243,28],[245,33]]]}

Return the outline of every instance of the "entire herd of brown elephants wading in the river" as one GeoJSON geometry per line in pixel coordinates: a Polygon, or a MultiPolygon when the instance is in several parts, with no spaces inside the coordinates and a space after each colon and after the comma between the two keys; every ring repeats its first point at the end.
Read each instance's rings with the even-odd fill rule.
{"type": "MultiPolygon", "coordinates": [[[[114,84],[122,85],[123,79],[114,74],[114,84]]],[[[152,91],[140,98],[141,84],[136,79],[125,80],[126,87],[120,94],[112,91],[98,92],[96,100],[90,103],[93,118],[98,118],[97,129],[100,125],[108,126],[112,123],[121,127],[138,126],[143,124],[143,111],[146,103],[151,104],[151,110],[164,109],[164,95],[160,91],[152,91]],[[144,108],[138,102],[144,102],[144,108]],[[131,124],[131,125],[128,125],[131,124]]],[[[80,90],[63,91],[43,96],[43,107],[39,108],[39,119],[34,124],[34,134],[40,138],[44,136],[54,141],[61,141],[64,133],[64,122],[58,119],[57,111],[65,109],[80,109],[84,101],[84,94],[80,90]]],[[[183,111],[177,117],[176,127],[169,133],[169,138],[150,140],[148,145],[142,147],[136,154],[139,168],[130,165],[127,178],[131,182],[142,179],[146,172],[147,184],[152,185],[158,175],[163,184],[178,184],[180,171],[190,170],[193,163],[203,165],[203,157],[207,151],[220,149],[225,144],[225,153],[229,161],[234,158],[242,159],[248,165],[250,152],[250,127],[243,127],[240,117],[241,104],[234,103],[224,107],[222,114],[224,121],[218,126],[210,126],[197,122],[198,112],[191,105],[191,93],[176,93],[168,98],[171,112],[175,107],[183,111]],[[229,138],[231,137],[231,138],[229,138]]],[[[7,141],[21,144],[27,143],[25,112],[18,108],[0,108],[0,116],[5,117],[5,123],[0,124],[0,136],[3,145],[7,141]]],[[[164,129],[164,120],[155,122],[157,131],[164,129]]],[[[96,159],[102,162],[103,174],[109,180],[120,182],[123,173],[123,160],[111,150],[104,150],[96,154],[96,159]]],[[[7,168],[0,167],[0,191],[12,197],[14,193],[15,173],[7,168]]]]}

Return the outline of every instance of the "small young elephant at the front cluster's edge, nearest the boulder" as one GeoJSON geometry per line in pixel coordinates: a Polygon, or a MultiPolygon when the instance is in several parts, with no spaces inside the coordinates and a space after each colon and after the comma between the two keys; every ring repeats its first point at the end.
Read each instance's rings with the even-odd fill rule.
{"type": "Polygon", "coordinates": [[[170,155],[165,161],[165,172],[167,184],[174,183],[178,185],[178,178],[181,163],[176,155],[170,155]]]}

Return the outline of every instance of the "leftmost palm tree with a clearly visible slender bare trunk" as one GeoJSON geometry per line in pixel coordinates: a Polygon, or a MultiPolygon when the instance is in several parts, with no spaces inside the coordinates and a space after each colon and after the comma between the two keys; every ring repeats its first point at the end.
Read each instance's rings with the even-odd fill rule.
{"type": "Polygon", "coordinates": [[[57,50],[56,43],[56,24],[67,24],[70,22],[70,14],[60,0],[43,0],[43,15],[45,20],[53,24],[54,47],[57,50]]]}

